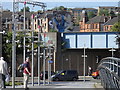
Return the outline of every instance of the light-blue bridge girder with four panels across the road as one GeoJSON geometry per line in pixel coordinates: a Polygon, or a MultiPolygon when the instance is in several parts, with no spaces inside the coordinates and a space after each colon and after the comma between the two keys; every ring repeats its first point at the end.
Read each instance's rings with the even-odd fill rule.
{"type": "Polygon", "coordinates": [[[117,32],[63,33],[65,48],[118,48],[117,32]]]}

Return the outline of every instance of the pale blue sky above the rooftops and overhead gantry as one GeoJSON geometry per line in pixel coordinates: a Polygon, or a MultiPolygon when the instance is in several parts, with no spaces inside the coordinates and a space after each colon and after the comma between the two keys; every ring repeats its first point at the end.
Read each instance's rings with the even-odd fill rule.
{"type": "MultiPolygon", "coordinates": [[[[3,6],[4,10],[13,10],[12,9],[12,1],[13,0],[0,0],[0,3],[3,6]]],[[[18,1],[18,0],[16,0],[18,1]]],[[[24,0],[22,0],[24,1],[24,0]]],[[[26,0],[29,1],[29,0],[26,0]]],[[[32,1],[40,1],[44,2],[47,5],[46,9],[52,9],[54,7],[64,6],[66,8],[97,8],[99,6],[118,6],[118,2],[120,0],[32,0],[32,1]]],[[[27,5],[30,7],[30,11],[41,10],[40,7],[35,6],[33,10],[33,6],[27,5]]],[[[19,4],[19,9],[23,8],[23,3],[19,4]]]]}

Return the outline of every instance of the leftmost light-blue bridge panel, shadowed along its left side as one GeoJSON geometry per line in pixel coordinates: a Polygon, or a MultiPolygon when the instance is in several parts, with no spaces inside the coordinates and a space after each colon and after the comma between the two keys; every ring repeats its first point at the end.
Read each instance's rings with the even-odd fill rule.
{"type": "Polygon", "coordinates": [[[65,41],[67,42],[66,48],[76,48],[76,35],[65,35],[65,41]]]}

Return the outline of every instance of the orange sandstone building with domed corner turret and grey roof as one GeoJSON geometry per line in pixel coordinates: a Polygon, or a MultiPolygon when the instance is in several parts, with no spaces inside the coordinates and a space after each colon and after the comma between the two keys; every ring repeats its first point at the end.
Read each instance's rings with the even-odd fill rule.
{"type": "Polygon", "coordinates": [[[88,20],[87,12],[83,11],[80,20],[80,32],[101,32],[103,25],[109,20],[108,16],[95,16],[88,20]]]}

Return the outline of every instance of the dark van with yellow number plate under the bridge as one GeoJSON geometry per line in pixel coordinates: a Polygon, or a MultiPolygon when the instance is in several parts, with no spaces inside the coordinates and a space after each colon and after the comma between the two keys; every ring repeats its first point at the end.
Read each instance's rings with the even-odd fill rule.
{"type": "Polygon", "coordinates": [[[77,70],[61,70],[57,74],[52,75],[51,77],[52,81],[67,81],[67,80],[78,80],[78,73],[77,70]]]}

